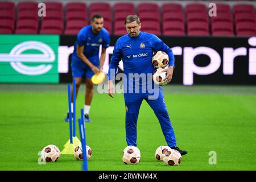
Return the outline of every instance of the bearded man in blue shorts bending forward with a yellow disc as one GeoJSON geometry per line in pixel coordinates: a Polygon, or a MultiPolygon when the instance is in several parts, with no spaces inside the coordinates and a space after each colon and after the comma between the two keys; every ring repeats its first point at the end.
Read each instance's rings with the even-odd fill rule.
{"type": "MultiPolygon", "coordinates": [[[[84,118],[86,122],[90,122],[89,110],[93,97],[92,76],[94,73],[102,71],[106,57],[106,48],[109,47],[110,37],[108,31],[103,27],[104,19],[101,15],[92,16],[91,24],[82,28],[77,34],[77,41],[74,46],[72,55],[72,75],[76,80],[76,97],[79,91],[82,77],[85,77],[85,105],[84,118]],[[99,50],[102,45],[101,56],[99,59],[99,50]]],[[[71,96],[73,88],[71,89],[71,96]]],[[[73,97],[71,97],[71,108],[73,113],[73,97]]],[[[67,122],[69,114],[65,118],[67,122]]]]}

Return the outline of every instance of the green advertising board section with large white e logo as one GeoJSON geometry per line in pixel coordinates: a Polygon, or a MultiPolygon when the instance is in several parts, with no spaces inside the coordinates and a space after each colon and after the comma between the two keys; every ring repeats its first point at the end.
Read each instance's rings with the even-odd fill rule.
{"type": "Polygon", "coordinates": [[[59,36],[1,35],[0,82],[59,82],[59,36]]]}

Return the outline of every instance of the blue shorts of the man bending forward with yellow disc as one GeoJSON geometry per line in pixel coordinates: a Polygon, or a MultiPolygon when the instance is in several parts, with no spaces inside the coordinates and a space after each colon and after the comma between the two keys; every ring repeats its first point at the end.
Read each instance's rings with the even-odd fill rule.
{"type": "MultiPolygon", "coordinates": [[[[96,67],[99,66],[99,63],[98,64],[95,64],[94,62],[92,63],[96,67]]],[[[92,78],[92,76],[94,75],[94,72],[92,71],[92,69],[88,67],[88,65],[86,65],[80,59],[77,59],[75,57],[72,57],[71,69],[72,69],[73,78],[81,78],[81,77],[92,78]]]]}

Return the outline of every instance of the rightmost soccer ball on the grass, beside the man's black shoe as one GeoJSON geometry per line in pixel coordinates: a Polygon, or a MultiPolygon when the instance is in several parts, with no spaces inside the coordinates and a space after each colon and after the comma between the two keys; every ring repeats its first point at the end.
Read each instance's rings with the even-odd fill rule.
{"type": "Polygon", "coordinates": [[[163,162],[168,166],[179,166],[181,163],[181,155],[178,151],[168,150],[163,157],[163,162]]]}

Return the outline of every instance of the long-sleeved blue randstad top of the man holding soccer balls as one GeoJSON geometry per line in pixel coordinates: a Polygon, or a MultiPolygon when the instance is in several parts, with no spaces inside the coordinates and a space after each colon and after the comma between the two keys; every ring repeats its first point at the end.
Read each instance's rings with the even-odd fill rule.
{"type": "Polygon", "coordinates": [[[146,75],[154,73],[155,68],[152,65],[152,55],[156,51],[166,52],[169,56],[169,65],[174,67],[174,53],[172,53],[171,48],[154,34],[139,32],[139,35],[136,37],[131,37],[129,34],[122,36],[115,43],[109,65],[109,80],[114,79],[114,75],[111,75],[111,69],[114,69],[114,73],[116,73],[121,59],[123,61],[123,72],[127,77],[129,73],[138,73],[139,75],[141,73],[146,75]]]}

